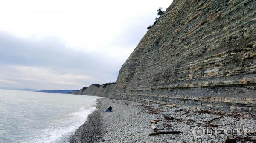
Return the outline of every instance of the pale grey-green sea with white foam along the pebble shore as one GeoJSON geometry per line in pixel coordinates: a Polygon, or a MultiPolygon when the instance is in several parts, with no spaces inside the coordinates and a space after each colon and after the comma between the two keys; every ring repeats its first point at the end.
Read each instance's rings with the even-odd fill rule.
{"type": "Polygon", "coordinates": [[[99,97],[0,90],[0,143],[65,142],[99,97]]]}

